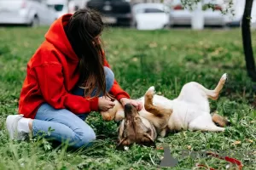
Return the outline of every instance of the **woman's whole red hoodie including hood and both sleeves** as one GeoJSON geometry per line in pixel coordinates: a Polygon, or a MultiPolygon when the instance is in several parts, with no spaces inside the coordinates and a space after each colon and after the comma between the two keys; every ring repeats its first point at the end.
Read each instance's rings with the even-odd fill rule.
{"type": "MultiPolygon", "coordinates": [[[[71,16],[65,14],[53,23],[45,34],[46,40],[27,64],[19,101],[19,113],[25,117],[34,118],[38,107],[45,102],[55,109],[67,109],[74,114],[98,111],[98,98],[89,100],[71,94],[79,81],[79,58],[63,28],[71,16]]],[[[109,67],[106,59],[105,66],[109,67]]],[[[118,100],[130,98],[116,80],[110,93],[118,100]]]]}

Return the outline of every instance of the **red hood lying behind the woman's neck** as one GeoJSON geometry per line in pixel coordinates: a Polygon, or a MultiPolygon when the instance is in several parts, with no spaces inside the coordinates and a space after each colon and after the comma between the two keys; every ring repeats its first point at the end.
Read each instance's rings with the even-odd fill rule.
{"type": "Polygon", "coordinates": [[[50,42],[67,58],[79,60],[75,54],[71,43],[68,41],[64,26],[67,26],[68,20],[73,14],[64,14],[49,27],[49,31],[45,34],[46,41],[50,42]]]}

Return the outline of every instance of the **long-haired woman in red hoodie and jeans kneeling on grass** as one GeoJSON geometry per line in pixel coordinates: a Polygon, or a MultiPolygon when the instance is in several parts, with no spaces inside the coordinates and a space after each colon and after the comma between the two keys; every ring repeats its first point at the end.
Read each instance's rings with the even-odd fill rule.
{"type": "Polygon", "coordinates": [[[27,64],[19,114],[7,117],[11,139],[42,135],[50,127],[54,131],[46,138],[79,148],[96,139],[84,122],[90,111],[108,111],[111,99],[142,110],[115,81],[101,47],[102,31],[101,16],[89,8],[65,14],[49,28],[27,64]]]}

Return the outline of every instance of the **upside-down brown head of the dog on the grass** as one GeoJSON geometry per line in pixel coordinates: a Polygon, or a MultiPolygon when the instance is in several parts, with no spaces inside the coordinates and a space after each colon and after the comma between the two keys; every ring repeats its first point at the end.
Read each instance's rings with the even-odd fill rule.
{"type": "Polygon", "coordinates": [[[119,144],[117,150],[131,144],[154,146],[157,133],[154,125],[140,116],[133,105],[125,105],[125,119],[119,125],[119,144]]]}

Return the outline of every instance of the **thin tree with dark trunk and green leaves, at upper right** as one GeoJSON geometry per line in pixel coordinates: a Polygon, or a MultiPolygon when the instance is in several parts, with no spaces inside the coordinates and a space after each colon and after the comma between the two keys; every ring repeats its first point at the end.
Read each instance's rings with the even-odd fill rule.
{"type": "MultiPolygon", "coordinates": [[[[204,0],[181,0],[183,6],[185,8],[190,8],[198,3],[203,2],[204,0]]],[[[239,0],[240,1],[240,0],[239,0]]],[[[242,44],[243,44],[243,51],[245,55],[246,67],[247,67],[247,75],[252,79],[253,82],[256,82],[256,69],[255,69],[255,61],[253,58],[253,47],[252,47],[252,36],[251,36],[251,13],[253,7],[253,0],[245,0],[245,8],[242,15],[241,20],[241,36],[242,36],[242,44]]],[[[226,8],[222,10],[223,14],[226,13],[233,13],[232,5],[233,0],[224,0],[226,4],[226,8]]],[[[208,8],[212,8],[214,10],[214,6],[211,3],[207,3],[208,8]]]]}

